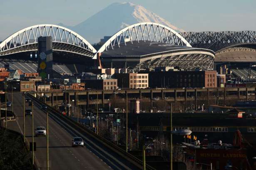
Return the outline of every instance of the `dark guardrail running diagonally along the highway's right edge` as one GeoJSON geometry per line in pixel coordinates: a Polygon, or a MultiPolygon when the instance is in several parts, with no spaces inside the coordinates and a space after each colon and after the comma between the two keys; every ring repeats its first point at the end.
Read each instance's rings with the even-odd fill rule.
{"type": "MultiPolygon", "coordinates": [[[[45,104],[44,102],[42,102],[41,100],[37,99],[36,97],[30,95],[29,93],[27,94],[29,97],[33,98],[33,100],[37,103],[41,103],[41,104],[45,104]]],[[[45,104],[47,105],[47,104],[45,104]]],[[[67,117],[67,116],[62,116],[61,112],[59,112],[58,110],[56,110],[55,108],[50,107],[49,105],[47,105],[47,110],[49,110],[51,113],[55,114],[56,116],[58,116],[60,119],[66,121],[69,123],[70,126],[74,126],[77,127],[79,129],[81,129],[82,131],[84,131],[87,135],[89,135],[90,137],[94,138],[95,140],[99,141],[100,143],[102,143],[105,147],[107,147],[108,149],[110,149],[111,151],[113,151],[114,153],[117,153],[119,156],[121,156],[122,158],[128,160],[130,163],[132,163],[133,165],[135,165],[137,168],[143,169],[143,162],[142,160],[136,158],[135,156],[133,156],[130,153],[127,153],[126,151],[124,151],[122,148],[119,148],[118,146],[116,146],[114,143],[111,143],[109,141],[107,141],[105,138],[103,138],[102,136],[99,136],[97,134],[95,134],[94,132],[92,132],[91,130],[87,129],[85,126],[82,126],[82,124],[77,123],[76,121],[72,120],[71,118],[67,117]]],[[[147,170],[155,170],[154,168],[152,168],[151,166],[146,164],[146,169],[147,170]]]]}

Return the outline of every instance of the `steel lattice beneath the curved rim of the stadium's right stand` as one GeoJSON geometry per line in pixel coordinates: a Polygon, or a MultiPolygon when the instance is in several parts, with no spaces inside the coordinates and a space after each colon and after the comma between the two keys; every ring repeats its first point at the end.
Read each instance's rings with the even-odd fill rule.
{"type": "Polygon", "coordinates": [[[134,70],[154,69],[156,67],[175,67],[184,70],[213,70],[214,58],[207,54],[181,54],[176,56],[162,56],[160,58],[141,61],[134,70]]]}

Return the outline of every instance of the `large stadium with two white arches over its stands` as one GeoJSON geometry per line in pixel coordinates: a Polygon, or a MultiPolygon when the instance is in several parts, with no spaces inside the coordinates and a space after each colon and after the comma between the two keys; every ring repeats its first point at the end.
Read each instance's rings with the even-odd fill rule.
{"type": "Polygon", "coordinates": [[[193,48],[169,27],[144,22],[130,25],[106,41],[97,51],[85,38],[65,27],[40,24],[22,29],[0,43],[0,67],[24,73],[37,72],[37,37],[52,36],[55,74],[81,73],[95,66],[128,70],[174,66],[184,70],[213,70],[215,53],[193,48]],[[97,57],[99,56],[99,57],[97,57]]]}

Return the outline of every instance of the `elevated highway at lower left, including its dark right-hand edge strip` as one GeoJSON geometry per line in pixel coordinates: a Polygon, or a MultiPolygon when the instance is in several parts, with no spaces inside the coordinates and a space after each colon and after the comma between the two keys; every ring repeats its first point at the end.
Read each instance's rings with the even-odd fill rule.
{"type": "MultiPolygon", "coordinates": [[[[10,98],[10,97],[9,97],[10,98]]],[[[34,101],[34,129],[37,126],[46,127],[46,112],[40,109],[42,103],[31,97],[34,101]]],[[[21,93],[13,95],[13,109],[17,116],[17,125],[15,121],[8,121],[7,128],[19,131],[24,134],[23,130],[23,96],[21,93]]],[[[27,103],[26,108],[31,108],[27,103]]],[[[113,151],[108,143],[102,141],[101,138],[95,137],[95,134],[90,134],[85,128],[79,126],[57,114],[50,109],[49,111],[49,160],[50,169],[130,169],[136,170],[142,168],[140,160],[132,160],[133,156],[128,153],[122,153],[116,149],[113,151]],[[84,148],[73,148],[71,146],[72,137],[81,136],[85,140],[84,148]],[[137,162],[136,162],[137,161],[137,162]]],[[[25,136],[26,139],[32,141],[32,117],[25,117],[25,136]]],[[[91,132],[92,133],[92,132],[91,132]]],[[[35,133],[34,133],[35,134],[35,133]]],[[[45,137],[34,137],[37,150],[35,151],[35,162],[37,167],[42,170],[46,169],[46,145],[45,137]]],[[[135,158],[135,157],[134,157],[135,158]]],[[[153,169],[148,166],[149,169],[153,169]]]]}

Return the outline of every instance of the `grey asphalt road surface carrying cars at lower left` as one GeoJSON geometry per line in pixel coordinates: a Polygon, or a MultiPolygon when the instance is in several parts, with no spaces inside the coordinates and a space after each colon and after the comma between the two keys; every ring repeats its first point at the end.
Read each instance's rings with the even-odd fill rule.
{"type": "MultiPolygon", "coordinates": [[[[11,101],[11,96],[8,95],[8,99],[11,101]]],[[[23,131],[23,96],[21,93],[15,93],[13,95],[13,109],[17,115],[17,124],[19,128],[14,128],[15,121],[8,121],[7,128],[23,131]]],[[[25,108],[31,108],[28,104],[25,104],[25,108]]],[[[11,109],[11,108],[9,108],[11,109]]],[[[37,126],[46,127],[46,113],[39,109],[37,104],[34,104],[34,129],[37,126]]],[[[49,117],[49,160],[50,169],[52,170],[81,170],[81,169],[95,169],[95,170],[109,170],[112,169],[104,160],[98,157],[97,153],[93,152],[93,149],[87,144],[86,147],[71,146],[72,137],[75,134],[69,131],[61,123],[57,124],[57,120],[54,117],[49,117]]],[[[32,141],[32,116],[25,117],[25,135],[26,138],[32,141]]],[[[34,131],[35,135],[35,131],[34,131]]],[[[47,160],[47,141],[46,137],[38,136],[34,137],[37,150],[35,151],[36,160],[40,170],[46,169],[47,160]]],[[[86,142],[86,141],[85,141],[86,142]]],[[[109,164],[109,163],[108,163],[109,164]]],[[[116,169],[116,168],[114,168],[116,169]]]]}

